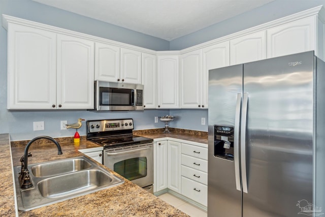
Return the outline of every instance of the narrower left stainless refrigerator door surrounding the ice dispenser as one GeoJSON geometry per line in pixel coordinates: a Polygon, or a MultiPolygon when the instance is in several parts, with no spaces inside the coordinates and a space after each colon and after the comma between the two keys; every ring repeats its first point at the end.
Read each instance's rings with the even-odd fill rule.
{"type": "MultiPolygon", "coordinates": [[[[208,216],[241,216],[235,163],[214,156],[214,126],[235,126],[237,94],[241,92],[242,65],[209,71],[208,216]]],[[[236,155],[234,152],[234,159],[236,155]]]]}

